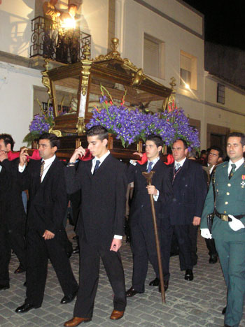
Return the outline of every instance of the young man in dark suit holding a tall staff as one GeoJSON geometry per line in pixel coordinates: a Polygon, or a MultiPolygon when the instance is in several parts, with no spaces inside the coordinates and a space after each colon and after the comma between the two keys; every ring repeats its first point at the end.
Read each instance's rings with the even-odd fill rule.
{"type": "MultiPolygon", "coordinates": [[[[170,170],[165,163],[160,161],[159,157],[160,152],[162,152],[162,145],[163,142],[160,136],[148,136],[146,139],[146,157],[148,161],[143,165],[135,161],[130,161],[127,171],[128,182],[134,182],[134,195],[130,207],[130,233],[134,268],[132,287],[127,291],[127,297],[132,297],[137,293],[144,293],[148,261],[153,265],[156,275],[156,278],[150,282],[150,285],[158,286],[160,284],[149,194],[153,194],[155,200],[158,235],[161,235],[162,228],[164,228],[163,220],[165,220],[162,211],[168,205],[172,196],[170,170]],[[155,173],[153,175],[152,185],[147,186],[146,178],[142,173],[144,171],[150,172],[151,170],[154,170],[155,173]]],[[[162,271],[165,291],[167,291],[169,284],[169,261],[165,260],[165,254],[162,254],[162,271]]]]}

